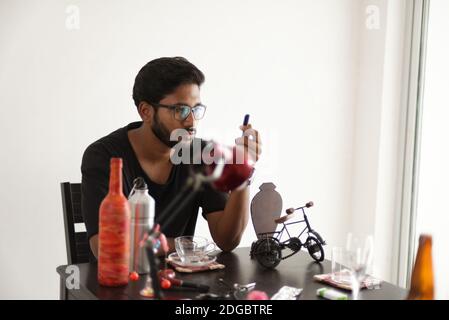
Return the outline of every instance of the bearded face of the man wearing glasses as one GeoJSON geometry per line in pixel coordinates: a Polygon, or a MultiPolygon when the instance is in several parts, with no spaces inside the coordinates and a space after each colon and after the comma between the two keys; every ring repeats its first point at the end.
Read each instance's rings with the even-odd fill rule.
{"type": "MultiPolygon", "coordinates": [[[[196,84],[185,84],[179,86],[173,93],[167,95],[159,101],[164,105],[188,105],[194,107],[200,103],[200,88],[196,84]]],[[[196,133],[197,120],[194,119],[193,114],[183,120],[176,120],[173,116],[173,110],[166,108],[155,108],[153,115],[151,130],[154,135],[161,140],[166,146],[173,148],[178,141],[171,141],[170,135],[176,129],[184,129],[186,135],[183,136],[183,141],[191,143],[196,133]]]]}

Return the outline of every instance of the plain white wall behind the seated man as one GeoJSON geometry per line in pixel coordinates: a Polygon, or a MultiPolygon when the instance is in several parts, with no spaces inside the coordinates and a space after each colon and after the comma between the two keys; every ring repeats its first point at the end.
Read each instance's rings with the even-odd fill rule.
{"type": "MultiPolygon", "coordinates": [[[[383,15],[385,3],[377,5],[383,15]]],[[[312,226],[329,247],[362,223],[351,222],[353,211],[374,221],[375,201],[362,211],[354,199],[375,189],[363,190],[358,175],[377,170],[360,156],[380,139],[378,129],[363,128],[371,121],[364,112],[381,96],[365,100],[371,89],[362,85],[383,81],[382,62],[365,65],[365,7],[359,0],[1,1],[0,298],[58,297],[55,268],[66,263],[59,183],[80,181],[90,142],[138,119],[135,74],[160,56],[185,56],[206,74],[200,136],[231,142],[251,114],[264,141],[252,194],[273,181],[284,208],[313,200],[312,226]],[[79,30],[66,28],[71,4],[80,10],[79,30]]],[[[371,46],[382,53],[384,31],[375,37],[371,46]]],[[[201,219],[197,231],[208,234],[201,219]]],[[[253,239],[250,224],[241,245],[253,239]]]]}

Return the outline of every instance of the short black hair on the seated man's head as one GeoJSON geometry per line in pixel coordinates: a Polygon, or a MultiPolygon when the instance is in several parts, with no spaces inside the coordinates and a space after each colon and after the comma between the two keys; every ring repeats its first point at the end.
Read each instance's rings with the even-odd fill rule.
{"type": "Polygon", "coordinates": [[[183,57],[151,60],[140,69],[133,87],[136,107],[142,101],[158,103],[183,84],[201,86],[204,74],[183,57]]]}

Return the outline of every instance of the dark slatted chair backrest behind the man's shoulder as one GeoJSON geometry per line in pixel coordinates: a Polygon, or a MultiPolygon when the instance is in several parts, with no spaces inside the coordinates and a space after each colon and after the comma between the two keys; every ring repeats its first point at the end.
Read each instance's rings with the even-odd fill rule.
{"type": "Polygon", "coordinates": [[[84,231],[84,220],[81,214],[81,184],[62,182],[61,195],[67,262],[68,264],[89,262],[90,246],[87,240],[87,232],[84,231]],[[80,228],[77,228],[78,226],[80,228]],[[84,230],[79,231],[77,229],[84,230]]]}

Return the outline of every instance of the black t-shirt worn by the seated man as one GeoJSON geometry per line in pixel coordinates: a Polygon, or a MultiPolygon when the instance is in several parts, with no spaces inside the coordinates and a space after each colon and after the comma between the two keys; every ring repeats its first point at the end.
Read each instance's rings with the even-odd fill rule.
{"type": "Polygon", "coordinates": [[[185,186],[190,168],[188,164],[183,163],[173,165],[165,184],[151,181],[141,168],[128,139],[128,131],[140,127],[141,124],[142,122],[130,123],[92,143],[84,152],[81,164],[81,210],[89,239],[98,233],[98,212],[101,201],[108,193],[112,157],[123,159],[123,193],[126,197],[133,187],[133,180],[137,177],[144,178],[148,192],[156,202],[155,223],[161,225],[161,230],[167,237],[193,235],[200,207],[203,216],[225,208],[228,194],[219,192],[210,185],[204,185],[181,210],[175,212],[176,217],[171,217],[172,212],[164,212],[164,208],[185,186]]]}

